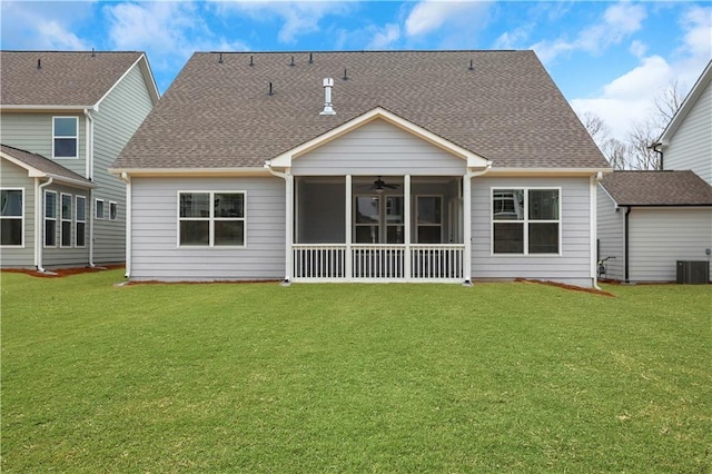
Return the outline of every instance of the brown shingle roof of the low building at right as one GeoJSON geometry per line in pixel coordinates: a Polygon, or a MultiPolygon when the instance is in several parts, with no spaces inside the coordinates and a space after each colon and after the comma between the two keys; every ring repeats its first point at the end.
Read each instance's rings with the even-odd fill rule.
{"type": "Polygon", "coordinates": [[[712,186],[692,171],[614,171],[601,186],[619,206],[712,206],[712,186]]]}

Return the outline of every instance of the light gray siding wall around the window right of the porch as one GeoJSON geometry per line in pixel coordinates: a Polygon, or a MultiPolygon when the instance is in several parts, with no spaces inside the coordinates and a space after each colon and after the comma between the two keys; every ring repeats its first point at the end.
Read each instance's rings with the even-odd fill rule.
{"type": "Polygon", "coordinates": [[[591,186],[589,178],[474,178],[472,182],[472,276],[532,278],[591,286],[591,186]],[[492,188],[561,188],[561,255],[493,255],[492,188]]]}

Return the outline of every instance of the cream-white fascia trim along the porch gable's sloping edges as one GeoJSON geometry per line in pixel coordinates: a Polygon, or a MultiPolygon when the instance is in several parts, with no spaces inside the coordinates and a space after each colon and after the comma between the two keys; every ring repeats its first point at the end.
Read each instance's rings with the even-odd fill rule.
{"type": "Polygon", "coordinates": [[[329,141],[333,141],[376,119],[385,120],[388,124],[394,125],[402,130],[405,130],[458,158],[467,160],[467,167],[469,168],[486,168],[487,166],[490,166],[490,160],[487,160],[486,158],[466,150],[465,148],[462,148],[458,145],[453,144],[418,125],[398,117],[397,115],[389,112],[382,107],[376,107],[375,109],[372,109],[366,113],[363,113],[347,121],[346,124],[342,124],[340,126],[327,131],[326,134],[313,138],[312,140],[306,141],[298,147],[293,148],[291,150],[268,160],[267,166],[275,168],[289,168],[291,167],[293,159],[299,158],[299,156],[319,148],[328,144],[329,141]]]}

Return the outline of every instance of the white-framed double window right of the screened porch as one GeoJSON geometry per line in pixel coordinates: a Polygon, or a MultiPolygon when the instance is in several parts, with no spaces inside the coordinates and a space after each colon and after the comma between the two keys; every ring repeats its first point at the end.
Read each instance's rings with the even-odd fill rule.
{"type": "Polygon", "coordinates": [[[494,254],[558,254],[560,189],[493,189],[494,254]]]}

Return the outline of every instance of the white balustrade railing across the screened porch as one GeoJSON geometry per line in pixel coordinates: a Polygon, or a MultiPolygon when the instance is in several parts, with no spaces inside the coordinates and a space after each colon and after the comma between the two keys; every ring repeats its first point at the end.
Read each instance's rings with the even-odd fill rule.
{"type": "Polygon", "coordinates": [[[295,244],[295,280],[461,282],[462,244],[295,244]]]}

